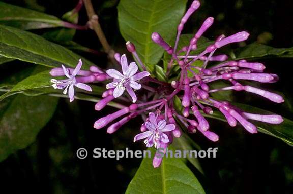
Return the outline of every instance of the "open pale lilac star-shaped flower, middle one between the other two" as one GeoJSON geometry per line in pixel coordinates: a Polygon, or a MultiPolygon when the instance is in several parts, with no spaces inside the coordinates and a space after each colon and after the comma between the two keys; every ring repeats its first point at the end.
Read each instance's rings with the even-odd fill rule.
{"type": "Polygon", "coordinates": [[[107,74],[113,78],[113,82],[106,85],[107,89],[115,88],[113,91],[113,96],[115,98],[118,98],[124,93],[124,90],[126,89],[128,94],[132,98],[132,102],[136,102],[137,98],[133,91],[139,90],[141,88],[141,85],[138,84],[136,81],[139,81],[143,79],[144,77],[147,77],[150,75],[148,71],[142,71],[139,73],[136,73],[138,70],[138,67],[135,62],[131,62],[128,66],[126,55],[121,56],[121,66],[122,66],[122,73],[120,73],[118,70],[115,69],[109,69],[107,70],[107,74]],[[136,74],[135,74],[136,73],[136,74]],[[132,89],[133,88],[133,89],[132,89]]]}

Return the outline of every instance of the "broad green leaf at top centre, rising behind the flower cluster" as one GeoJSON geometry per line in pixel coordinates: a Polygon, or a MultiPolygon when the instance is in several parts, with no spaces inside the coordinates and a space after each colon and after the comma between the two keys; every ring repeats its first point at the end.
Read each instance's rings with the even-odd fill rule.
{"type": "Polygon", "coordinates": [[[150,68],[158,63],[164,50],[153,43],[151,35],[158,32],[173,44],[177,25],[182,18],[186,0],[122,0],[118,6],[120,32],[132,42],[142,62],[150,68]]]}

